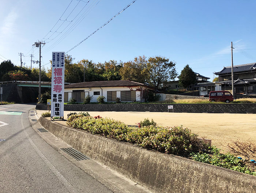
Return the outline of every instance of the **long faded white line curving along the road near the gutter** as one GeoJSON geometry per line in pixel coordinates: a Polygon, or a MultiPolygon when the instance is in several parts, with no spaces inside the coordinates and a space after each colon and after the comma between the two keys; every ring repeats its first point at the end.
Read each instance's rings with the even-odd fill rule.
{"type": "Polygon", "coordinates": [[[68,189],[69,192],[77,192],[76,189],[74,188],[74,186],[72,186],[67,179],[59,172],[59,170],[57,170],[52,163],[44,156],[44,154],[38,149],[38,147],[35,145],[35,143],[32,141],[32,139],[29,137],[29,134],[27,134],[27,131],[25,130],[24,124],[23,124],[23,114],[21,115],[21,126],[23,129],[23,132],[25,133],[27,139],[29,140],[31,146],[34,148],[34,150],[37,152],[37,154],[41,157],[41,159],[45,162],[45,164],[48,166],[48,168],[50,170],[52,170],[52,173],[54,173],[54,175],[59,178],[60,182],[65,186],[65,188],[68,189]]]}

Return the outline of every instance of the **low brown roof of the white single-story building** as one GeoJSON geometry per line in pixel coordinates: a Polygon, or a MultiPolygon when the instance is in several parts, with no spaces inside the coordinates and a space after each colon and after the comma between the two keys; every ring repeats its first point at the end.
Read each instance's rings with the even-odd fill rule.
{"type": "Polygon", "coordinates": [[[123,86],[148,86],[138,82],[129,80],[110,80],[110,81],[93,81],[93,82],[80,82],[65,85],[65,88],[88,88],[88,87],[123,87],[123,86]]]}

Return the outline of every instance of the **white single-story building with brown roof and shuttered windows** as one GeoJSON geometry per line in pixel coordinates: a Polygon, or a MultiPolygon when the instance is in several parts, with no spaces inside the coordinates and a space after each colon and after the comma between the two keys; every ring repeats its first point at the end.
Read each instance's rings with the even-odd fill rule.
{"type": "Polygon", "coordinates": [[[70,98],[83,102],[87,95],[93,96],[91,102],[97,102],[98,96],[105,96],[106,102],[116,102],[117,97],[121,102],[145,102],[148,92],[154,90],[147,84],[129,80],[80,82],[65,85],[64,102],[68,102],[70,98]]]}

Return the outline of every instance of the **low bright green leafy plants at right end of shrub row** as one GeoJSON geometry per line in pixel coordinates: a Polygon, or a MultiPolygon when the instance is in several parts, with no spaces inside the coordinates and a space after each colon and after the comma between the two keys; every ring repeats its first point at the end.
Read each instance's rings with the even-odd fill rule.
{"type": "Polygon", "coordinates": [[[246,174],[251,174],[256,176],[256,171],[253,172],[248,166],[245,165],[241,159],[238,159],[232,154],[222,154],[219,152],[215,146],[210,146],[207,148],[206,152],[200,151],[199,153],[191,153],[191,158],[195,161],[220,166],[222,168],[227,168],[231,170],[236,170],[237,172],[242,172],[246,174]]]}

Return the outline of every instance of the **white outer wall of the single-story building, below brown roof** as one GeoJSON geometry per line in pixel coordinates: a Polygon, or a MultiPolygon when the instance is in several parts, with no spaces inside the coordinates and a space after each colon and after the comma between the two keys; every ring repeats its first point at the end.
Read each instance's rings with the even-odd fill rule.
{"type": "MultiPolygon", "coordinates": [[[[130,91],[131,89],[136,91],[136,89],[140,89],[140,87],[65,88],[64,92],[69,92],[69,94],[71,95],[73,90],[83,90],[84,92],[89,92],[89,95],[93,96],[93,99],[91,100],[91,102],[97,102],[98,96],[101,96],[101,95],[106,97],[105,101],[107,102],[107,92],[108,91],[117,91],[116,97],[121,98],[121,91],[130,91]],[[96,91],[99,91],[100,95],[94,95],[94,92],[96,92],[96,91]]],[[[147,89],[147,88],[142,86],[142,89],[147,89]]],[[[136,91],[136,101],[141,100],[140,93],[141,93],[140,91],[136,91]]],[[[68,97],[69,97],[69,94],[68,94],[68,97]]],[[[87,95],[87,94],[85,94],[85,95],[87,95]]],[[[70,98],[71,98],[71,96],[70,96],[70,98]]],[[[122,101],[122,102],[125,102],[125,101],[122,101]]],[[[132,101],[126,101],[126,102],[132,102],[132,101]]]]}

